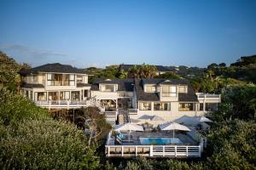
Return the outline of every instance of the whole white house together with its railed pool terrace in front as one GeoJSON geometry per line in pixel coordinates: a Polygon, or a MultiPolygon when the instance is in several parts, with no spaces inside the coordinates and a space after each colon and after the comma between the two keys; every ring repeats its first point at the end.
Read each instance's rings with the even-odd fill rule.
{"type": "Polygon", "coordinates": [[[201,157],[206,139],[194,127],[176,133],[174,138],[174,130],[173,135],[154,133],[156,128],[147,132],[146,127],[135,123],[149,122],[156,127],[183,116],[197,118],[217,110],[220,102],[218,94],[195,94],[185,79],[96,79],[89,84],[84,71],[58,63],[32,68],[23,76],[22,93],[43,108],[74,111],[96,106],[113,126],[132,125],[145,130],[131,134],[129,130],[123,139],[111,131],[105,145],[107,157],[201,157]]]}

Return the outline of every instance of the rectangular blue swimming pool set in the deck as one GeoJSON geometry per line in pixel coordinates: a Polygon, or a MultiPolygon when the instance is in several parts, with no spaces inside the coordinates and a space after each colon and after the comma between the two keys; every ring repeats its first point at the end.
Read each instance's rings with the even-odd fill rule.
{"type": "Polygon", "coordinates": [[[141,144],[182,144],[182,141],[178,138],[162,138],[162,137],[141,137],[141,144]]]}

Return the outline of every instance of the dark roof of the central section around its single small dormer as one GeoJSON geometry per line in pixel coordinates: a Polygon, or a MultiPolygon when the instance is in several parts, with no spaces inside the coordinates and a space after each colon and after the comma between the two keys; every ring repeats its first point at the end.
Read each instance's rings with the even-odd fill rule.
{"type": "Polygon", "coordinates": [[[130,79],[130,78],[126,78],[126,79],[102,79],[102,78],[97,78],[92,83],[90,90],[98,91],[100,83],[118,84],[118,91],[132,92],[133,91],[134,80],[130,79]]]}

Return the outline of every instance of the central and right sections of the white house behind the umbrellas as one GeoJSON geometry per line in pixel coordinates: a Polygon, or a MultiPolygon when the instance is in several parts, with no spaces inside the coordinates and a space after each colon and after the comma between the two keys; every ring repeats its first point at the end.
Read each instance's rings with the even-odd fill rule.
{"type": "Polygon", "coordinates": [[[112,121],[125,110],[130,122],[155,125],[181,116],[203,116],[217,110],[220,102],[218,94],[195,94],[184,79],[97,79],[90,94],[101,102],[112,121]],[[154,116],[161,119],[151,121],[154,116]]]}

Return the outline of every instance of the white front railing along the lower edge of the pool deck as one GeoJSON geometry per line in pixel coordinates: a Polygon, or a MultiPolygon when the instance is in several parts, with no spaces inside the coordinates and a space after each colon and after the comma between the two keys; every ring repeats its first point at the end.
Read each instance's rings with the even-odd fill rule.
{"type": "Polygon", "coordinates": [[[201,157],[201,145],[106,145],[107,157],[201,157]]]}

